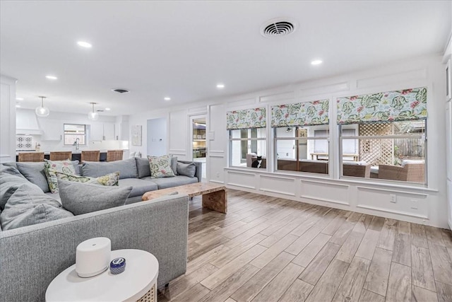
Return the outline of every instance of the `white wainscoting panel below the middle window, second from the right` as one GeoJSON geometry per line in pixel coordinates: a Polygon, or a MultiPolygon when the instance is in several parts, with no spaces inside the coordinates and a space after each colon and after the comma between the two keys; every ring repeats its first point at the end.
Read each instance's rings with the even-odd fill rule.
{"type": "Polygon", "coordinates": [[[350,186],[322,181],[302,180],[300,197],[350,205],[350,186]]]}

